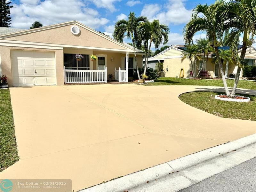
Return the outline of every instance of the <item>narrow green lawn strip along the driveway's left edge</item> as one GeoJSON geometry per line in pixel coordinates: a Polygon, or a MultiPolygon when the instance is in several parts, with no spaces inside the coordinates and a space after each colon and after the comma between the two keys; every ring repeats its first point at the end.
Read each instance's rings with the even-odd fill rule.
{"type": "Polygon", "coordinates": [[[0,89],[0,172],[19,160],[9,89],[0,89]]]}

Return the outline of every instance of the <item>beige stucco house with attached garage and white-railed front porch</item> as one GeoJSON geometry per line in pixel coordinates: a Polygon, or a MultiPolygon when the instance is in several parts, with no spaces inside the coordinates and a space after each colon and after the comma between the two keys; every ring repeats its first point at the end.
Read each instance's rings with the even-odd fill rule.
{"type": "MultiPolygon", "coordinates": [[[[141,68],[144,53],[136,52],[141,68]]],[[[136,68],[132,46],[77,21],[1,35],[0,58],[9,86],[107,82],[109,74],[128,82],[136,68]],[[75,54],[84,58],[78,61],[75,54]]]]}

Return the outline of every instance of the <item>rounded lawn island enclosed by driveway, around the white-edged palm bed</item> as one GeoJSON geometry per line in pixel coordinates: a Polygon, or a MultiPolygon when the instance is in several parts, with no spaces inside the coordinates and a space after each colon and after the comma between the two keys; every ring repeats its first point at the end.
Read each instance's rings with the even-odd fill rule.
{"type": "Polygon", "coordinates": [[[188,105],[211,113],[213,115],[232,119],[245,119],[256,121],[256,96],[249,102],[232,102],[214,99],[220,92],[188,92],[180,95],[180,100],[188,105]]]}

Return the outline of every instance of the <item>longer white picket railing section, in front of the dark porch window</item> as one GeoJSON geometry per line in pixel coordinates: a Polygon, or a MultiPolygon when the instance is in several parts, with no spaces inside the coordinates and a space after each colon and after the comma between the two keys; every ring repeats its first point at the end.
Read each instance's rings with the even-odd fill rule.
{"type": "Polygon", "coordinates": [[[64,66],[65,83],[107,83],[107,68],[105,70],[76,70],[64,66]]]}

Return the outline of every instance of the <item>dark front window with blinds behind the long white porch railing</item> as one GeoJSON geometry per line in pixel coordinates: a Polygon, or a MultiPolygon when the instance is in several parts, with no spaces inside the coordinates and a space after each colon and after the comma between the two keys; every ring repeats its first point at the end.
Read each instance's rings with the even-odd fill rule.
{"type": "Polygon", "coordinates": [[[83,59],[81,61],[76,60],[76,54],[72,53],[64,53],[64,66],[66,69],[81,69],[81,70],[89,70],[90,69],[90,60],[89,55],[83,55],[83,59]]]}

